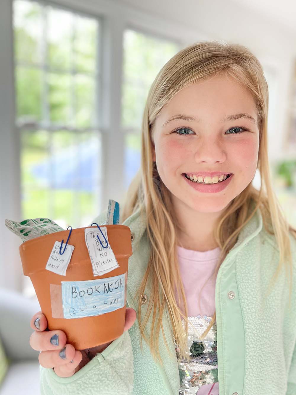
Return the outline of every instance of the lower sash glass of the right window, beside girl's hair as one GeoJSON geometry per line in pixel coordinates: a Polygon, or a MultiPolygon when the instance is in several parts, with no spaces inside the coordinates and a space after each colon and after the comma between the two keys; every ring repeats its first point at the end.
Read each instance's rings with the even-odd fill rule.
{"type": "Polygon", "coordinates": [[[125,137],[124,166],[125,186],[128,188],[131,180],[141,165],[141,135],[140,133],[127,133],[125,137]]]}

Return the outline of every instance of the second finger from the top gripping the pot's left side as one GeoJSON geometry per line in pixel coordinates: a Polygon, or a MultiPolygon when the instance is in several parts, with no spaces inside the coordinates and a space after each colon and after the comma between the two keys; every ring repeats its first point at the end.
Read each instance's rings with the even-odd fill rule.
{"type": "Polygon", "coordinates": [[[34,331],[30,337],[30,346],[38,351],[61,350],[67,342],[63,331],[34,331]]]}

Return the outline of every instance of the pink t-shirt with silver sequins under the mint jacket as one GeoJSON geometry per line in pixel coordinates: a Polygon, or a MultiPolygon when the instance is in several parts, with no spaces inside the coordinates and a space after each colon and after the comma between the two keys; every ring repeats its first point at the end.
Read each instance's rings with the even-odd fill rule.
{"type": "MultiPolygon", "coordinates": [[[[220,251],[219,247],[200,252],[177,246],[188,319],[194,325],[194,328],[190,324],[188,326],[188,347],[192,363],[188,365],[183,361],[179,365],[180,395],[219,395],[216,322],[203,340],[200,340],[200,335],[215,313],[216,276],[210,277],[214,273],[220,251]]],[[[176,300],[178,303],[178,299],[176,300]]],[[[184,325],[184,320],[182,322],[184,325]]]]}

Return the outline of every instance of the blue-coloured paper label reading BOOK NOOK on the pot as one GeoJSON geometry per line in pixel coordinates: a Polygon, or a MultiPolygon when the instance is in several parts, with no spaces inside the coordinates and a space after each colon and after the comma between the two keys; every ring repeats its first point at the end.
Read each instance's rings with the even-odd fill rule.
{"type": "Polygon", "coordinates": [[[98,316],[126,305],[126,275],[86,281],[62,281],[64,318],[98,316]]]}

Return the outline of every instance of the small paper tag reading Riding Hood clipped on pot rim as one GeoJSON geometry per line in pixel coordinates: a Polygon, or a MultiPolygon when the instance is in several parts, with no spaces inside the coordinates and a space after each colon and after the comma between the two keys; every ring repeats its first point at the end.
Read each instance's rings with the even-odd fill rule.
{"type": "MultiPolygon", "coordinates": [[[[64,254],[60,254],[61,241],[56,241],[52,248],[51,254],[45,266],[46,270],[52,271],[61,276],[66,276],[67,267],[70,263],[74,246],[67,244],[64,254]]],[[[62,252],[64,251],[65,243],[62,245],[62,252]]]]}

